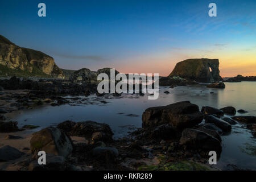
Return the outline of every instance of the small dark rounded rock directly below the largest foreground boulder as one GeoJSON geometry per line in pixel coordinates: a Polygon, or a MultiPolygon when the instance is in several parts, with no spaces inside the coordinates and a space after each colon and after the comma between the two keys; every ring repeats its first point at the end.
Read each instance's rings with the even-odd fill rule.
{"type": "Polygon", "coordinates": [[[168,124],[160,125],[152,131],[154,139],[171,139],[176,138],[176,130],[168,124]]]}

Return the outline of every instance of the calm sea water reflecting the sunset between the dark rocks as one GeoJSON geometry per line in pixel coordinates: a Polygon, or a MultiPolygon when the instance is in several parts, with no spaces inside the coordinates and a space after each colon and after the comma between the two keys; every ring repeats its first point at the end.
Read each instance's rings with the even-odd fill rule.
{"type": "MultiPolygon", "coordinates": [[[[18,121],[19,126],[39,125],[42,129],[50,125],[72,121],[97,121],[108,123],[114,132],[114,138],[123,137],[136,127],[141,127],[142,113],[152,106],[164,106],[179,101],[191,101],[201,106],[217,108],[234,106],[248,111],[245,115],[256,115],[256,82],[225,83],[225,89],[206,88],[205,85],[160,87],[158,100],[148,100],[147,95],[89,96],[80,104],[44,106],[40,109],[23,110],[8,115],[18,121]],[[163,93],[168,90],[170,94],[163,93]],[[214,92],[211,94],[210,92],[214,92]],[[102,104],[100,101],[106,101],[102,104]],[[128,116],[132,114],[131,116],[128,116]]],[[[237,113],[237,115],[242,115],[237,113]]],[[[256,170],[256,140],[243,125],[233,126],[232,133],[222,136],[222,154],[217,166],[227,169],[227,164],[239,168],[256,170]]]]}

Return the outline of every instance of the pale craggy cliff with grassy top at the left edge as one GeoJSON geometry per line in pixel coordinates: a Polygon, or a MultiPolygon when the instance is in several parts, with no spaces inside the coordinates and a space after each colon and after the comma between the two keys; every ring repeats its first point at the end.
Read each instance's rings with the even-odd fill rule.
{"type": "Polygon", "coordinates": [[[63,72],[51,56],[33,49],[16,46],[0,35],[0,64],[6,68],[25,71],[35,76],[63,78],[63,72]]]}

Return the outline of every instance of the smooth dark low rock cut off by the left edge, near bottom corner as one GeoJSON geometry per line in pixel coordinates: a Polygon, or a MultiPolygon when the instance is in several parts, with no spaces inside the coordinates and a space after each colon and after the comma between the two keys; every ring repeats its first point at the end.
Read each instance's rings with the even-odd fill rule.
{"type": "Polygon", "coordinates": [[[20,152],[16,148],[11,147],[9,145],[0,148],[0,162],[18,159],[22,155],[24,155],[23,152],[20,152]]]}

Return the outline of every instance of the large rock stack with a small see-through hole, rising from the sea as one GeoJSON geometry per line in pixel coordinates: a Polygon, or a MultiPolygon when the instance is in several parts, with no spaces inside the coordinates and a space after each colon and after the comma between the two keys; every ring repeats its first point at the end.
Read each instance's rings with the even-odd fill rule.
{"type": "Polygon", "coordinates": [[[223,81],[218,59],[187,59],[176,64],[171,76],[180,76],[197,82],[223,81]]]}

